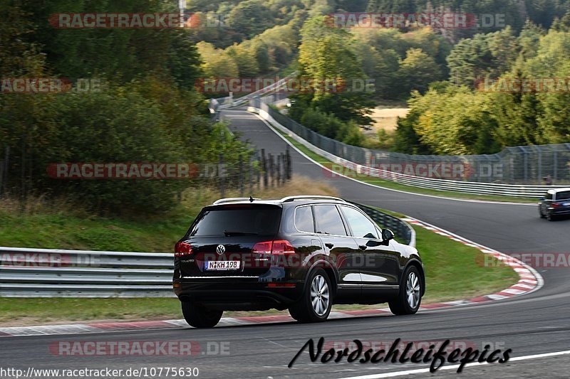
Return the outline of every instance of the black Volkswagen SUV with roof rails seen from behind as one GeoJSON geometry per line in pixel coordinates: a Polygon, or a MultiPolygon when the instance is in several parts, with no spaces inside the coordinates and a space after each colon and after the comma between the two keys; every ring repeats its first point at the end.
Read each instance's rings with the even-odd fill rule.
{"type": "Polygon", "coordinates": [[[341,198],[227,198],[202,209],[175,246],[182,314],[215,326],[226,310],[289,309],[325,321],[332,304],[379,304],[415,314],[425,292],[414,247],[341,198]]]}

